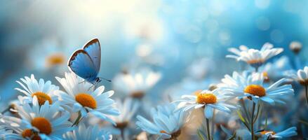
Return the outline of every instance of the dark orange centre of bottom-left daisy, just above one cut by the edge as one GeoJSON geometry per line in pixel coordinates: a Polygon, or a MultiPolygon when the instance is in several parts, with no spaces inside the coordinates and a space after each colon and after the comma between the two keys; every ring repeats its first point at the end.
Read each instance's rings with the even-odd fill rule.
{"type": "Polygon", "coordinates": [[[31,124],[39,129],[40,133],[48,135],[52,132],[51,123],[46,118],[36,117],[32,120],[31,124]]]}

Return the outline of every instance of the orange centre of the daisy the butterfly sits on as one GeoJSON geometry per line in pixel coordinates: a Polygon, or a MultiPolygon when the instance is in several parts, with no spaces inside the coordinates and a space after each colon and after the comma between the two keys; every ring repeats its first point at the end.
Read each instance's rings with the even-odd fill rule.
{"type": "Polygon", "coordinates": [[[86,93],[79,93],[76,94],[76,102],[79,102],[83,107],[89,107],[91,109],[96,109],[96,101],[95,99],[91,96],[91,94],[86,94],[86,93]]]}

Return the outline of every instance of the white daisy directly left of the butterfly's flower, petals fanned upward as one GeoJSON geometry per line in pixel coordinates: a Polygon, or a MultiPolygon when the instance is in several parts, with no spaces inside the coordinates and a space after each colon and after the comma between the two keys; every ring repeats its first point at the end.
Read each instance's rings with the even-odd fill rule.
{"type": "Polygon", "coordinates": [[[37,81],[33,74],[30,78],[25,76],[25,78],[20,78],[20,80],[25,85],[18,80],[16,80],[16,82],[22,86],[23,90],[20,88],[15,88],[15,90],[27,95],[26,97],[18,97],[20,102],[32,103],[34,96],[37,97],[40,105],[43,105],[46,101],[50,104],[57,101],[58,97],[55,96],[55,92],[59,90],[59,87],[52,85],[50,80],[46,81],[46,83],[43,79],[39,79],[39,81],[37,81]]]}

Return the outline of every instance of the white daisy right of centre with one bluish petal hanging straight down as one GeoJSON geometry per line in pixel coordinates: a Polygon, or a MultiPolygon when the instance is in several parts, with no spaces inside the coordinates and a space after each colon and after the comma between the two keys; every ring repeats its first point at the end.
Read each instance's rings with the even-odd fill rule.
{"type": "Polygon", "coordinates": [[[182,99],[176,100],[175,103],[179,103],[178,107],[183,108],[183,111],[189,111],[190,109],[204,108],[204,115],[206,118],[213,117],[213,109],[231,113],[232,109],[237,107],[227,103],[227,100],[233,97],[222,94],[220,89],[215,90],[203,90],[196,95],[183,95],[182,99]]]}

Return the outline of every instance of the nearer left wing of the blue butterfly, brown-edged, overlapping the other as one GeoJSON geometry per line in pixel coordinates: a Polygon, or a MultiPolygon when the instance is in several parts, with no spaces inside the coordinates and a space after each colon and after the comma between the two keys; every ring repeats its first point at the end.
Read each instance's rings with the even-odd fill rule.
{"type": "Polygon", "coordinates": [[[93,82],[98,76],[95,65],[85,50],[76,50],[69,59],[68,66],[77,76],[93,82]]]}

